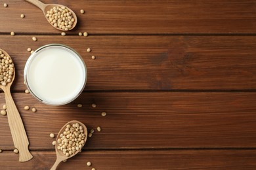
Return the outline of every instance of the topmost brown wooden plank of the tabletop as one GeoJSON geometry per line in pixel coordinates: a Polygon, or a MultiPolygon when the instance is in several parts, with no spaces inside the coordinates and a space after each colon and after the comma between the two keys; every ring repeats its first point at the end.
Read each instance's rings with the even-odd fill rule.
{"type": "MultiPolygon", "coordinates": [[[[73,9],[79,24],[72,33],[255,33],[255,1],[51,1],[73,9]],[[80,14],[80,9],[85,14],[80,14]]],[[[1,7],[1,33],[58,33],[43,12],[26,1],[5,1],[1,7]],[[22,8],[20,8],[22,7],[22,8]],[[24,19],[20,14],[25,14],[24,19]]]]}

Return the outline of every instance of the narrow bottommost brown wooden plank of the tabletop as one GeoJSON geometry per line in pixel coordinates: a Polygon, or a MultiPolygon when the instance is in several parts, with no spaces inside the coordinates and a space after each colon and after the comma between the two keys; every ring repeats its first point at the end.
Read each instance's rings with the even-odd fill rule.
{"type": "MultiPolygon", "coordinates": [[[[32,154],[32,160],[20,163],[18,155],[3,152],[0,166],[3,169],[50,169],[54,163],[54,151],[32,154]]],[[[255,169],[255,159],[255,150],[83,151],[60,163],[58,169],[255,169]],[[87,167],[87,161],[91,161],[91,167],[87,167]]]]}

